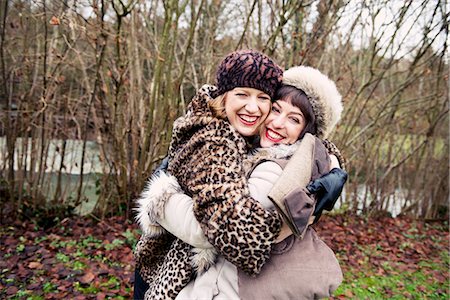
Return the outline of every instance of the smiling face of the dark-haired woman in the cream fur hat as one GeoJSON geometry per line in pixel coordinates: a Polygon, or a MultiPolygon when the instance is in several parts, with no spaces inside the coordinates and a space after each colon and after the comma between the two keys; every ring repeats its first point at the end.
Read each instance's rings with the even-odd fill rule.
{"type": "Polygon", "coordinates": [[[272,111],[260,132],[261,147],[293,144],[305,126],[305,117],[300,108],[288,101],[278,100],[272,105],[272,111]]]}

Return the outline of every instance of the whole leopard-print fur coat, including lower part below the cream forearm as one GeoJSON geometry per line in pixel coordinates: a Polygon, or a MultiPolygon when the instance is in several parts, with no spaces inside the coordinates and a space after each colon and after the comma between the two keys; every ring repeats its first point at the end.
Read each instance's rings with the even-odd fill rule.
{"type": "MultiPolygon", "coordinates": [[[[250,197],[243,161],[248,147],[227,120],[212,115],[207,102],[216,88],[205,85],[174,123],[168,172],[192,197],[194,215],[214,249],[249,275],[256,275],[270,256],[281,218],[250,197]]],[[[174,191],[175,192],[175,191],[174,191]]],[[[158,215],[164,204],[148,207],[158,215]]],[[[214,262],[214,254],[196,260],[191,246],[157,224],[135,250],[136,265],[149,282],[146,299],[173,299],[214,262]]]]}

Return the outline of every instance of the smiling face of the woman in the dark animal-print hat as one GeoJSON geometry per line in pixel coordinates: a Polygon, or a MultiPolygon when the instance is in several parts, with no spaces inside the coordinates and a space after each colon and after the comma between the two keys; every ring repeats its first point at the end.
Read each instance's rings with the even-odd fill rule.
{"type": "Polygon", "coordinates": [[[225,114],[230,124],[243,136],[258,133],[259,126],[270,112],[270,97],[247,87],[237,87],[225,95],[225,114]]]}

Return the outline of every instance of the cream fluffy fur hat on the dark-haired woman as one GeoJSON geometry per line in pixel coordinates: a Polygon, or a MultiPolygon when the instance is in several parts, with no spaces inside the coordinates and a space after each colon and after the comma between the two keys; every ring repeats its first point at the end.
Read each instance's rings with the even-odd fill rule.
{"type": "Polygon", "coordinates": [[[299,66],[284,72],[283,84],[305,92],[316,117],[317,136],[327,138],[343,110],[342,97],[334,82],[317,69],[299,66]]]}

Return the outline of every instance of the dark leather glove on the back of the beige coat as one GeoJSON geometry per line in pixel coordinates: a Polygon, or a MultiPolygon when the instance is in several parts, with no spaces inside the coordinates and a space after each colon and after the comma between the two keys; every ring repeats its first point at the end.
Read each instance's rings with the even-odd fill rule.
{"type": "Polygon", "coordinates": [[[316,194],[317,203],[313,215],[316,216],[316,223],[322,211],[330,211],[342,193],[344,184],[347,181],[347,172],[342,169],[334,168],[330,173],[311,181],[306,187],[310,194],[316,194]]]}

